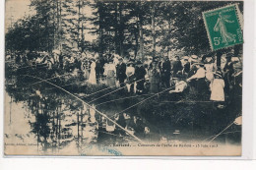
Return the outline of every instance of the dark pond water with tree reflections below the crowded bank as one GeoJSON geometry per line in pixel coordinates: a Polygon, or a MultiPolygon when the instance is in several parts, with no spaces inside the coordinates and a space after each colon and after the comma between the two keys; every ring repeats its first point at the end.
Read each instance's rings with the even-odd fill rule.
{"type": "MultiPolygon", "coordinates": [[[[193,98],[187,91],[156,96],[112,92],[116,88],[89,85],[79,73],[58,79],[48,75],[38,68],[21,72],[8,71],[7,67],[6,143],[30,143],[32,149],[48,154],[70,149],[83,154],[98,144],[137,142],[129,133],[144,142],[209,141],[241,112],[239,93],[219,108],[207,99],[209,96],[193,98]],[[50,83],[90,103],[124,130],[63,89],[37,78],[50,79],[50,83]]],[[[217,141],[240,143],[240,131],[240,127],[233,126],[217,141]]]]}

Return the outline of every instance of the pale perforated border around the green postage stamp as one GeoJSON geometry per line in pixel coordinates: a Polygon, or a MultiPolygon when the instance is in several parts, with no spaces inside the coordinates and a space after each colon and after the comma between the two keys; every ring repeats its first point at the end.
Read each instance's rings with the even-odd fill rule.
{"type": "MultiPolygon", "coordinates": [[[[240,30],[242,31],[241,22],[240,22],[240,19],[239,19],[239,16],[238,16],[238,12],[237,12],[237,10],[239,8],[237,3],[226,5],[224,7],[219,7],[219,8],[215,8],[215,9],[212,9],[212,10],[207,10],[207,11],[202,12],[202,16],[203,16],[203,19],[204,19],[204,25],[205,25],[205,28],[206,28],[206,31],[207,31],[207,36],[208,36],[209,44],[210,44],[210,47],[211,47],[212,51],[216,51],[216,50],[220,50],[220,49],[224,49],[224,48],[228,48],[228,47],[240,44],[240,43],[232,44],[232,45],[228,45],[228,46],[225,46],[225,47],[222,47],[222,48],[214,50],[214,47],[213,47],[213,44],[212,44],[212,39],[210,37],[210,32],[209,32],[209,29],[208,29],[208,25],[207,25],[207,22],[206,22],[206,19],[205,19],[205,14],[206,13],[210,13],[210,12],[213,12],[213,11],[216,11],[216,10],[221,10],[221,9],[224,9],[226,7],[231,7],[231,6],[234,6],[236,19],[238,21],[240,30]]],[[[243,34],[243,32],[242,32],[242,34],[243,34]]],[[[243,42],[244,42],[244,40],[243,40],[243,42]]]]}

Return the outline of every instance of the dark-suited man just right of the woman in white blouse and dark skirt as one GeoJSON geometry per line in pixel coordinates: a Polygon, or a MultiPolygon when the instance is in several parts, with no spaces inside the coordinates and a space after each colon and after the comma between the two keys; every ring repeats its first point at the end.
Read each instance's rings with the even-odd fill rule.
{"type": "Polygon", "coordinates": [[[137,84],[136,88],[139,93],[142,93],[144,91],[145,75],[146,70],[143,67],[142,62],[138,61],[135,68],[135,78],[137,84]]]}

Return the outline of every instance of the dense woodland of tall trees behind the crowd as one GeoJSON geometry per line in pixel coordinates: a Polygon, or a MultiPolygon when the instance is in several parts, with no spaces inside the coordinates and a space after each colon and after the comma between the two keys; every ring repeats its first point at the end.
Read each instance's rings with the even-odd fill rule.
{"type": "Polygon", "coordinates": [[[127,58],[200,55],[211,51],[202,12],[229,3],[32,0],[34,15],[9,28],[6,48],[69,53],[75,47],[127,58]]]}

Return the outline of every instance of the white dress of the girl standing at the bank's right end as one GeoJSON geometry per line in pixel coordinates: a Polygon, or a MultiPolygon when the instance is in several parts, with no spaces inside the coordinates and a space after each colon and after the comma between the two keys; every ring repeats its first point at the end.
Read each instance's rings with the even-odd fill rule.
{"type": "Polygon", "coordinates": [[[215,79],[211,85],[211,100],[224,101],[224,80],[215,79]]]}

